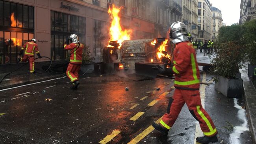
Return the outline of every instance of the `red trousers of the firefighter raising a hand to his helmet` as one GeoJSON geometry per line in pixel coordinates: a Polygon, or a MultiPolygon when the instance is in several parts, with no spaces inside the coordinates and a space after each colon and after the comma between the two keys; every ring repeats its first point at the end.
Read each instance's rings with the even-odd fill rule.
{"type": "Polygon", "coordinates": [[[70,81],[78,81],[78,72],[80,70],[81,64],[69,63],[67,68],[67,77],[69,77],[70,81]]]}

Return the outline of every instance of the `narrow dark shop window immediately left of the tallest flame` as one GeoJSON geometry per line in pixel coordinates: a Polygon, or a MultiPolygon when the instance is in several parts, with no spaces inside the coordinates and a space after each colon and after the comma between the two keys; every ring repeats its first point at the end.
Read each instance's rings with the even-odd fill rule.
{"type": "Polygon", "coordinates": [[[102,35],[102,30],[104,29],[105,22],[100,20],[93,20],[93,56],[99,58],[101,56],[101,51],[104,48],[103,41],[105,38],[102,35]]]}

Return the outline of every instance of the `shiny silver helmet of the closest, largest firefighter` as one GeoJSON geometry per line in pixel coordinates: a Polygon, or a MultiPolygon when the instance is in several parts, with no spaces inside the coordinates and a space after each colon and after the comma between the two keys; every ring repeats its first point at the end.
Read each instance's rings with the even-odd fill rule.
{"type": "Polygon", "coordinates": [[[182,22],[174,22],[169,29],[169,33],[173,43],[188,41],[186,25],[182,22]]]}

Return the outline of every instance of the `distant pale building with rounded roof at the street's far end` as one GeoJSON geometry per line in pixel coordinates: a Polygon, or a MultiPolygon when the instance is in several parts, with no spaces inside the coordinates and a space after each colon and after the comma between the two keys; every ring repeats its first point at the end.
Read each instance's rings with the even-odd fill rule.
{"type": "Polygon", "coordinates": [[[211,11],[212,11],[212,40],[215,40],[218,36],[219,29],[222,27],[222,14],[221,10],[219,10],[217,7],[212,7],[211,6],[211,11]]]}

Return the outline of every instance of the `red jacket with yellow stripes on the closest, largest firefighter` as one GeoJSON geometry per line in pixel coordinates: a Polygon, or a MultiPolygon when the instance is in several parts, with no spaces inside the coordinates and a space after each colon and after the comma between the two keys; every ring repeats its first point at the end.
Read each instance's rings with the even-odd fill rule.
{"type": "Polygon", "coordinates": [[[174,86],[180,89],[199,90],[200,73],[193,44],[189,41],[176,44],[173,52],[174,86]]]}

